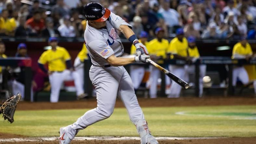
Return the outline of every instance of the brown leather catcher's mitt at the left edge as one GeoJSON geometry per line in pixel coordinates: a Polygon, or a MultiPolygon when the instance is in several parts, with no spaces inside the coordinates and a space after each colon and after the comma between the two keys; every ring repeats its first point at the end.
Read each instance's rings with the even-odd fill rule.
{"type": "Polygon", "coordinates": [[[7,119],[10,123],[14,122],[13,116],[20,98],[21,95],[18,93],[17,95],[8,98],[2,105],[0,105],[0,114],[2,113],[4,119],[7,119]]]}

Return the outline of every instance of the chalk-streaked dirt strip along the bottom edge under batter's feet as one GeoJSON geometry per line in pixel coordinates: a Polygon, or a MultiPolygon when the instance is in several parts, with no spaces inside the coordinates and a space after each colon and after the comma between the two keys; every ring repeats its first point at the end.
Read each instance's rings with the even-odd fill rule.
{"type": "MultiPolygon", "coordinates": [[[[255,144],[252,138],[157,138],[159,144],[255,144]]],[[[58,144],[57,137],[50,138],[5,138],[0,144],[58,144]]],[[[140,144],[137,137],[77,137],[71,144],[140,144]],[[116,139],[116,140],[110,140],[116,139]],[[119,140],[118,140],[119,139],[119,140]],[[121,139],[121,140],[120,140],[121,139]]]]}

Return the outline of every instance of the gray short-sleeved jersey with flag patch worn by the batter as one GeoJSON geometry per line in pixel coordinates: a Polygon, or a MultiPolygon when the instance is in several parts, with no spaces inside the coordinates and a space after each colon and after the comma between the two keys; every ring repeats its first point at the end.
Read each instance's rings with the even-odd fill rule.
{"type": "Polygon", "coordinates": [[[107,29],[96,29],[87,22],[84,40],[93,65],[109,65],[106,59],[110,55],[114,54],[116,57],[120,57],[123,54],[123,45],[116,31],[120,25],[127,25],[132,28],[130,24],[112,12],[109,20],[106,21],[107,29]]]}

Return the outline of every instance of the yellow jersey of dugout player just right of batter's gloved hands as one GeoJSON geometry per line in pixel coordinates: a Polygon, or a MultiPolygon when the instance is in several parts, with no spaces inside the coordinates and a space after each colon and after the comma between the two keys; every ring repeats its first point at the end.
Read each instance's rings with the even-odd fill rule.
{"type": "Polygon", "coordinates": [[[159,42],[157,39],[153,39],[150,42],[148,42],[148,53],[149,55],[156,55],[156,56],[162,56],[163,58],[166,58],[166,52],[169,46],[169,42],[166,39],[162,39],[161,42],[159,42]]]}

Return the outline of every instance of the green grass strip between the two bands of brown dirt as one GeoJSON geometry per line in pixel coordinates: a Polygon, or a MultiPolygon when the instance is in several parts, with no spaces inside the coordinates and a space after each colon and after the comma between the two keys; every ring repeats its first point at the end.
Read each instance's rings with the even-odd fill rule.
{"type": "MultiPolygon", "coordinates": [[[[0,122],[1,133],[28,137],[58,136],[59,127],[77,120],[88,109],[16,111],[15,122],[0,122]]],[[[142,108],[154,136],[256,137],[256,105],[142,108]],[[185,112],[185,115],[175,114],[185,112]]],[[[138,136],[124,108],[109,119],[81,130],[78,136],[138,136]]]]}

